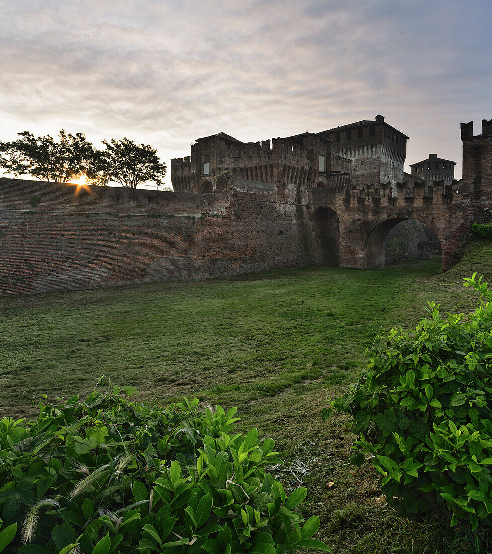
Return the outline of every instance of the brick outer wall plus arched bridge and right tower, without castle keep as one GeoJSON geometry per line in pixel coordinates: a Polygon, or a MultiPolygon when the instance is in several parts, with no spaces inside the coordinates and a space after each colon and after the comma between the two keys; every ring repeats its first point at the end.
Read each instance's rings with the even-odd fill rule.
{"type": "Polygon", "coordinates": [[[437,235],[447,270],[469,225],[490,220],[492,120],[482,124],[478,136],[462,124],[463,179],[451,185],[309,185],[299,172],[281,186],[240,175],[231,190],[190,193],[0,179],[0,294],[379,268],[388,233],[407,219],[437,235]]]}

